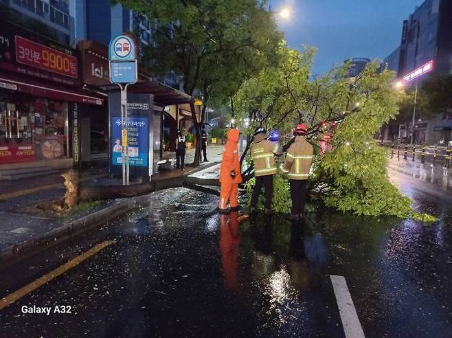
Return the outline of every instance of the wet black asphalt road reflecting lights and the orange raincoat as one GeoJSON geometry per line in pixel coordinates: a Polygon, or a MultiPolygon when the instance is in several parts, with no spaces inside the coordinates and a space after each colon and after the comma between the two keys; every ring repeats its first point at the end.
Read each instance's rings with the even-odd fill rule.
{"type": "Polygon", "coordinates": [[[0,310],[0,335],[343,337],[330,282],[341,275],[366,337],[451,337],[451,190],[416,170],[389,166],[437,223],[339,214],[239,223],[215,212],[217,197],[185,188],[151,194],[148,207],[102,231],[0,271],[3,297],[113,240],[0,310]],[[56,305],[71,314],[21,311],[56,305]]]}

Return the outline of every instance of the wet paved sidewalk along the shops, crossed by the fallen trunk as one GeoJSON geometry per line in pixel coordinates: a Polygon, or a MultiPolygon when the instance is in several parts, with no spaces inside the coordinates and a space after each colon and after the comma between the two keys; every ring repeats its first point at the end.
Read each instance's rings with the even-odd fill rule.
{"type": "MultiPolygon", "coordinates": [[[[223,146],[207,148],[207,158],[199,167],[188,166],[181,170],[162,170],[152,177],[153,180],[168,179],[181,175],[194,174],[210,166],[217,166],[221,161],[223,146]]],[[[194,158],[194,150],[188,150],[190,164],[194,158]]],[[[105,174],[94,175],[84,172],[82,179],[85,184],[98,181],[105,174]]],[[[63,217],[45,217],[25,214],[23,208],[44,201],[61,199],[65,195],[63,179],[59,175],[40,179],[27,179],[16,186],[0,182],[0,267],[17,262],[27,256],[47,249],[56,243],[77,236],[81,232],[98,227],[144,205],[146,195],[124,199],[102,201],[87,210],[63,217]]]]}

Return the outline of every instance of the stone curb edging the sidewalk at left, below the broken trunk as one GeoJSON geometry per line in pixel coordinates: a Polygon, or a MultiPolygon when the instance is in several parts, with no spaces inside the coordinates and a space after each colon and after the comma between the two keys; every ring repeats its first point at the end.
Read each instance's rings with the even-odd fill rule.
{"type": "Polygon", "coordinates": [[[34,256],[69,238],[74,238],[89,229],[101,227],[105,223],[130,212],[142,204],[144,204],[144,201],[140,201],[136,197],[122,199],[113,203],[113,205],[109,205],[104,209],[82,216],[81,218],[64,221],[60,226],[41,236],[30,238],[29,240],[11,245],[0,251],[0,268],[8,267],[25,258],[34,256]]]}

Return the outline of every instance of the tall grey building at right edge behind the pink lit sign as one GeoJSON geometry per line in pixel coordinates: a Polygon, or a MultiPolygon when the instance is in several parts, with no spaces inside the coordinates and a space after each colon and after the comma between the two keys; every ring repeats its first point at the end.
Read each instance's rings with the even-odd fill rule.
{"type": "MultiPolygon", "coordinates": [[[[403,78],[414,69],[433,60],[433,71],[437,74],[452,74],[452,1],[426,0],[416,7],[409,18],[403,21],[400,46],[385,58],[386,66],[403,78]]],[[[420,84],[429,75],[409,82],[420,84]]],[[[420,86],[418,86],[420,88],[420,86]]],[[[411,120],[411,119],[410,119],[411,120]]],[[[452,139],[452,114],[437,114],[430,120],[422,119],[422,111],[415,116],[414,142],[416,144],[447,144],[452,139]]],[[[390,128],[385,139],[409,139],[412,122],[390,128]],[[398,130],[398,133],[394,133],[398,130]]],[[[389,128],[387,128],[389,130],[389,128]]]]}

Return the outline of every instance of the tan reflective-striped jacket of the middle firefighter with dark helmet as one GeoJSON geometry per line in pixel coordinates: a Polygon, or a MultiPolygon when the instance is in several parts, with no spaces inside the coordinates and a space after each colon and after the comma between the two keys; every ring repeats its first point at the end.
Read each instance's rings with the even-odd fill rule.
{"type": "Polygon", "coordinates": [[[276,174],[275,153],[278,153],[278,144],[268,139],[251,144],[251,157],[254,162],[254,175],[266,176],[276,174]]]}

